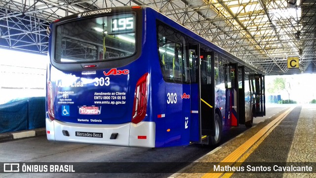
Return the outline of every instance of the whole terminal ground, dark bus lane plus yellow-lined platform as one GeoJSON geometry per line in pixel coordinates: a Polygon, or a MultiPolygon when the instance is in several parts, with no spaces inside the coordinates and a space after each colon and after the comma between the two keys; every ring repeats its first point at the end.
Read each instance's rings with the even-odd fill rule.
{"type": "MultiPolygon", "coordinates": [[[[96,144],[47,141],[42,136],[13,139],[0,143],[4,163],[71,162],[76,173],[41,174],[47,178],[316,178],[316,105],[276,105],[267,108],[266,117],[254,119],[250,129],[240,126],[223,134],[223,144],[207,147],[198,144],[159,149],[129,148],[96,144]],[[145,163],[145,164],[144,164],[145,163]],[[246,167],[289,164],[312,166],[312,173],[267,173],[214,171],[214,165],[246,167]],[[133,167],[131,167],[131,164],[133,167]],[[133,169],[132,169],[133,168],[133,169]],[[137,169],[136,169],[137,168],[137,169]],[[93,173],[91,173],[91,170],[93,173]]],[[[23,135],[34,135],[29,132],[23,135]]],[[[37,133],[36,133],[37,134],[37,133]]],[[[1,165],[0,165],[1,168],[1,165]]],[[[3,170],[0,169],[0,170],[3,170]]],[[[6,173],[3,178],[36,177],[38,173],[6,173]]]]}

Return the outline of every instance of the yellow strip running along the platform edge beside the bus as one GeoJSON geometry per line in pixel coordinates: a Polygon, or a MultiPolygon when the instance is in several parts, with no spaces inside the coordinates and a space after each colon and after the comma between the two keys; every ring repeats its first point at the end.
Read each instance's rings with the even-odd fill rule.
{"type": "MultiPolygon", "coordinates": [[[[232,166],[237,161],[243,162],[251,154],[251,152],[253,152],[255,148],[264,140],[264,138],[278,125],[278,123],[280,123],[287,116],[287,114],[291,110],[293,110],[293,108],[294,107],[289,108],[285,112],[283,110],[282,111],[283,113],[280,114],[275,119],[273,118],[270,120],[267,119],[267,121],[265,122],[269,122],[269,123],[268,124],[265,123],[265,126],[262,126],[264,125],[263,123],[259,123],[257,128],[253,128],[253,129],[245,131],[244,134],[242,134],[240,137],[233,138],[234,141],[231,140],[221,145],[221,147],[223,148],[217,149],[217,151],[212,152],[212,154],[205,155],[204,157],[198,159],[196,162],[203,162],[203,163],[220,162],[219,164],[223,164],[224,166],[229,165],[229,164],[231,164],[230,166],[232,166]],[[231,152],[230,150],[234,150],[234,151],[231,152]]],[[[203,171],[200,172],[199,170],[205,170],[205,168],[200,168],[193,165],[184,169],[185,170],[184,172],[187,172],[187,173],[174,174],[171,177],[174,177],[174,178],[201,178],[201,177],[218,178],[218,177],[223,176],[223,173],[210,173],[213,170],[211,168],[208,168],[208,169],[210,169],[209,173],[204,174],[205,172],[203,173],[203,171]]],[[[228,178],[231,175],[232,173],[225,174],[223,177],[228,178]]]]}

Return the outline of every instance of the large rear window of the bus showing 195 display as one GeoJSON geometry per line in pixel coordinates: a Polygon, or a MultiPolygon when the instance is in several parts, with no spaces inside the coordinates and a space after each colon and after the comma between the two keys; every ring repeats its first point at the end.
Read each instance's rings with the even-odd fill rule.
{"type": "Polygon", "coordinates": [[[55,61],[92,62],[135,53],[135,14],[77,19],[56,27],[55,61]]]}

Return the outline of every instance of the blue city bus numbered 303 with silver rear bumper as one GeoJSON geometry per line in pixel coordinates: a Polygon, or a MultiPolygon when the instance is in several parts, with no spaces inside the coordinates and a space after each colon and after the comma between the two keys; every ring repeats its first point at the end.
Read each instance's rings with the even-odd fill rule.
{"type": "Polygon", "coordinates": [[[265,115],[264,76],[151,7],[82,12],[47,32],[48,140],[214,145],[223,126],[265,115]]]}

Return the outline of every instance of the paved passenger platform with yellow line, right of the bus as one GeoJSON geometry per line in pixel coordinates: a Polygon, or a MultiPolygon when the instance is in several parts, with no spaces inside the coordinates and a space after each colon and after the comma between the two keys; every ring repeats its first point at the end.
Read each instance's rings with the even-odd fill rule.
{"type": "Polygon", "coordinates": [[[316,105],[292,105],[215,148],[170,178],[316,178],[315,150],[316,105]],[[243,167],[244,171],[217,171],[213,165],[243,167]],[[291,166],[308,166],[312,171],[276,171],[279,167],[291,166]],[[257,169],[253,171],[253,167],[257,169]],[[264,170],[267,168],[271,171],[264,170]]]}

